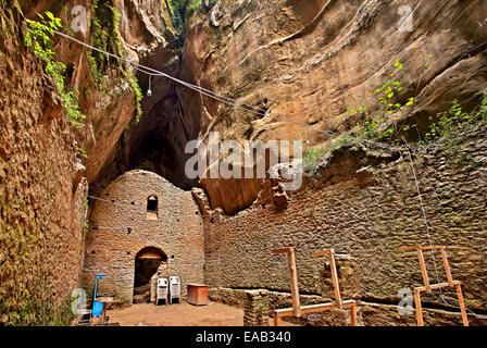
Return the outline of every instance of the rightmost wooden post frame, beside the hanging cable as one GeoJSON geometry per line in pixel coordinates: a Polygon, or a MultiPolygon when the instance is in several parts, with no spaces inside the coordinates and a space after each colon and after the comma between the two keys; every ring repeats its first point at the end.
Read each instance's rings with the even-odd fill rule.
{"type": "Polygon", "coordinates": [[[430,293],[432,290],[444,288],[444,287],[455,287],[457,296],[459,298],[459,303],[460,303],[460,310],[462,312],[463,325],[469,326],[469,319],[466,316],[465,302],[463,301],[462,283],[460,281],[453,281],[453,277],[451,276],[450,264],[448,262],[448,257],[447,257],[447,251],[445,250],[445,246],[430,246],[430,247],[411,246],[411,247],[399,248],[400,252],[413,251],[413,250],[416,250],[416,252],[417,252],[417,259],[420,260],[421,274],[423,276],[423,285],[424,285],[424,286],[414,288],[414,303],[416,304],[417,326],[424,326],[423,308],[421,306],[421,293],[422,291],[430,293]],[[424,261],[424,253],[423,253],[424,250],[432,250],[432,252],[434,252],[435,250],[440,250],[441,259],[444,261],[445,272],[447,273],[447,283],[439,283],[439,284],[430,284],[429,283],[428,271],[426,269],[426,262],[424,261]]]}

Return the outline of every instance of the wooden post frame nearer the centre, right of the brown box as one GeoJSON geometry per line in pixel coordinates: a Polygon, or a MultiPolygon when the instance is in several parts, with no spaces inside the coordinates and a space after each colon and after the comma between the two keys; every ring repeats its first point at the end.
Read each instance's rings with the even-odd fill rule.
{"type": "Polygon", "coordinates": [[[301,306],[299,301],[298,272],[296,269],[295,248],[279,248],[272,250],[274,253],[287,253],[289,264],[289,279],[291,285],[292,308],[276,309],[273,311],[274,326],[279,326],[284,316],[301,316],[301,314],[329,311],[333,309],[348,308],[350,312],[350,326],[357,326],[357,306],[355,300],[342,300],[340,285],[338,283],[338,273],[335,261],[335,250],[322,250],[314,252],[315,258],[328,257],[332,269],[332,282],[335,293],[335,302],[301,306]]]}

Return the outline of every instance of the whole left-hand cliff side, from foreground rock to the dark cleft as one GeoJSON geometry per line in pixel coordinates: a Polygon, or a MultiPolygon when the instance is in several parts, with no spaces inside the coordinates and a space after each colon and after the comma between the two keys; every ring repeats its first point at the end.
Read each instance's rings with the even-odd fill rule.
{"type": "Polygon", "coordinates": [[[153,60],[154,67],[174,58],[165,2],[1,1],[0,70],[8,76],[1,79],[1,323],[61,323],[70,316],[83,266],[88,183],[141,115],[138,82],[127,64],[54,36],[55,60],[67,66],[65,85],[79,92],[87,116],[85,127],[71,126],[53,79],[22,40],[25,18],[50,11],[70,28],[75,5],[87,10],[89,23],[88,30],[71,33],[77,39],[134,62],[153,60]]]}

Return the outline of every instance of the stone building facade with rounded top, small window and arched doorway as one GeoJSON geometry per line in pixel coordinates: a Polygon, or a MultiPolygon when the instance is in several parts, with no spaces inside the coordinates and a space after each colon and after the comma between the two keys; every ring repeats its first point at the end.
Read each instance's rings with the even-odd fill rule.
{"type": "Polygon", "coordinates": [[[146,171],[116,178],[93,202],[86,239],[84,281],[91,290],[97,274],[102,289],[120,303],[150,298],[150,279],[161,264],[167,276],[204,282],[203,221],[191,192],[146,171]],[[136,293],[134,296],[134,291],[136,293]]]}

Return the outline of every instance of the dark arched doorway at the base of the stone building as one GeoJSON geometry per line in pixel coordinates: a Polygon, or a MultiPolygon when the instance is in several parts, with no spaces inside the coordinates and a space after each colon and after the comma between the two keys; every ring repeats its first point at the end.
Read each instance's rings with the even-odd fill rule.
{"type": "Polygon", "coordinates": [[[164,251],[147,247],[135,257],[134,303],[150,302],[150,279],[162,262],[167,262],[164,251]]]}

